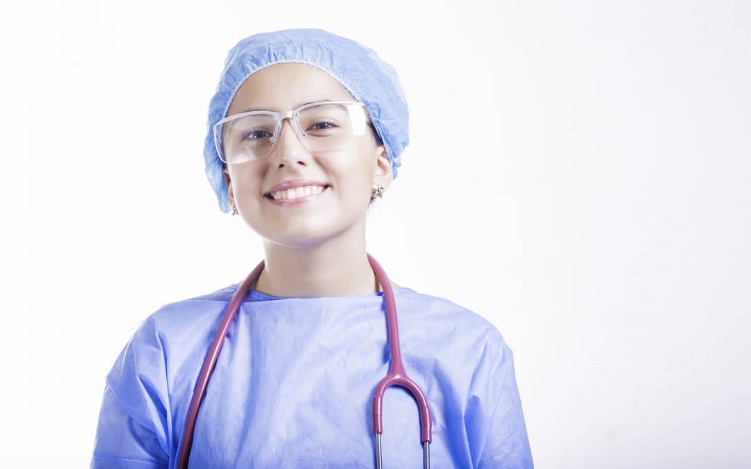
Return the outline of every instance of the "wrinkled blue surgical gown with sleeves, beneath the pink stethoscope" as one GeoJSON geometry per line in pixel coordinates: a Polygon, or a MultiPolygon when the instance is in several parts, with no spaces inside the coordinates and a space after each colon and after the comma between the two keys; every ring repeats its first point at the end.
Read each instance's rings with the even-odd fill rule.
{"type": "MultiPolygon", "coordinates": [[[[239,284],[162,306],[107,374],[92,468],[176,467],[207,350],[239,284]]],[[[282,298],[251,290],[219,353],[189,467],[375,467],[372,395],[389,368],[384,293],[282,298]]],[[[394,288],[406,372],[433,416],[431,466],[532,466],[513,353],[492,323],[394,288]]],[[[422,467],[417,404],[389,388],[385,467],[422,467]]]]}

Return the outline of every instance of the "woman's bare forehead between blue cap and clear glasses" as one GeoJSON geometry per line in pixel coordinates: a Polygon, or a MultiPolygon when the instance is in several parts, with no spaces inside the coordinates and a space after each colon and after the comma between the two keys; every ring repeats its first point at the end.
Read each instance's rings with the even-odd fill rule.
{"type": "Polygon", "coordinates": [[[342,83],[320,68],[297,62],[275,64],[261,68],[243,82],[227,114],[249,109],[286,111],[324,99],[354,101],[342,83]]]}

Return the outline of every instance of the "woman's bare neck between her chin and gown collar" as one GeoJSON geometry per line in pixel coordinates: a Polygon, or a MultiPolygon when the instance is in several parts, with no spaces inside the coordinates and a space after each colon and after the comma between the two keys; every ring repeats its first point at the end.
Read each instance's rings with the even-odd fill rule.
{"type": "MultiPolygon", "coordinates": [[[[264,239],[264,270],[253,289],[301,298],[378,293],[382,287],[367,258],[364,225],[360,228],[315,245],[280,245],[264,239]]],[[[398,285],[392,281],[391,287],[398,285]]]]}

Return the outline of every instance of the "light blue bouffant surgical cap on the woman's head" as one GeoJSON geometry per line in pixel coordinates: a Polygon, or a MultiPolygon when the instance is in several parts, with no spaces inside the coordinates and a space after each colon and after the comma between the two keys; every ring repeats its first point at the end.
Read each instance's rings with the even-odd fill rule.
{"type": "Polygon", "coordinates": [[[264,32],[240,40],[230,50],[209,104],[204,160],[222,212],[229,212],[230,206],[222,176],[224,164],[214,146],[214,125],[226,117],[235,92],[248,77],[261,68],[283,62],[300,62],[327,71],[365,105],[396,178],[402,151],[409,144],[409,110],[394,68],[368,47],[322,29],[264,32]]]}

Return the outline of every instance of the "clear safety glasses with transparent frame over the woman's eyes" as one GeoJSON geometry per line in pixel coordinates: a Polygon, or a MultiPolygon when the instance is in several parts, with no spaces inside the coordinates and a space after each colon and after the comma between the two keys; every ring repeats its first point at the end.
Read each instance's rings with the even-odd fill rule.
{"type": "Polygon", "coordinates": [[[291,120],[292,128],[309,152],[346,149],[372,125],[368,122],[366,108],[356,101],[316,101],[281,113],[234,114],[214,125],[219,158],[226,164],[264,158],[279,140],[284,119],[291,120]]]}

